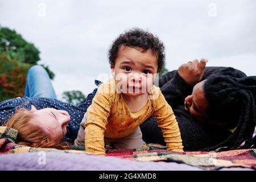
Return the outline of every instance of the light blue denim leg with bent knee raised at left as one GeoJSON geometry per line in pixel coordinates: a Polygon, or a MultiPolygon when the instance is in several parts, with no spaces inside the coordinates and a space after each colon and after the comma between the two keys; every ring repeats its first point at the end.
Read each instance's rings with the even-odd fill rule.
{"type": "Polygon", "coordinates": [[[42,66],[34,65],[28,70],[25,97],[57,98],[49,75],[42,66]]]}

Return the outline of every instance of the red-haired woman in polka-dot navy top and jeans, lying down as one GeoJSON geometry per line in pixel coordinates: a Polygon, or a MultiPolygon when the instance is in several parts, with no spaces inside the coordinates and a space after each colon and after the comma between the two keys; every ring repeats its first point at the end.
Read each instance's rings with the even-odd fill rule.
{"type": "MultiPolygon", "coordinates": [[[[17,129],[16,141],[19,144],[67,148],[63,141],[74,142],[79,124],[90,105],[87,101],[79,106],[57,101],[49,76],[39,65],[28,71],[24,96],[0,103],[0,126],[8,121],[6,126],[17,129]]],[[[91,97],[89,94],[88,100],[91,97]]]]}

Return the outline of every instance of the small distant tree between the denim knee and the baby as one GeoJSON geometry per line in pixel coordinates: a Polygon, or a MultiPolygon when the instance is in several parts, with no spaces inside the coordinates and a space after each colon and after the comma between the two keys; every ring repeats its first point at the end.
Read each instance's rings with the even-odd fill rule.
{"type": "Polygon", "coordinates": [[[85,100],[85,95],[79,90],[65,91],[62,94],[61,100],[72,104],[74,106],[79,105],[82,101],[85,100]]]}

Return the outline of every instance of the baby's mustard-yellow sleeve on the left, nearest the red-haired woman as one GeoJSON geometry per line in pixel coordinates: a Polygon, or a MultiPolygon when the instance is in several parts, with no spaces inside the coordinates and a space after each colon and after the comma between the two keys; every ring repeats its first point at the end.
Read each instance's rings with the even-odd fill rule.
{"type": "Polygon", "coordinates": [[[105,85],[100,86],[88,107],[85,123],[85,151],[96,155],[105,155],[104,132],[114,99],[114,93],[102,92],[102,86],[105,85]]]}

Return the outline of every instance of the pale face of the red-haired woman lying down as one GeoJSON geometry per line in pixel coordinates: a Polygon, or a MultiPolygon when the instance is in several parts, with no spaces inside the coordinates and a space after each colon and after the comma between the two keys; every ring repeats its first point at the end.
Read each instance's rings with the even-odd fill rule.
{"type": "Polygon", "coordinates": [[[50,138],[60,141],[67,134],[67,125],[71,120],[67,111],[46,108],[33,111],[33,125],[42,128],[50,138]]]}

